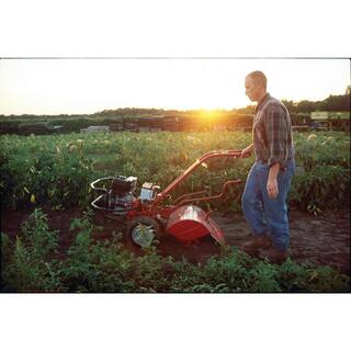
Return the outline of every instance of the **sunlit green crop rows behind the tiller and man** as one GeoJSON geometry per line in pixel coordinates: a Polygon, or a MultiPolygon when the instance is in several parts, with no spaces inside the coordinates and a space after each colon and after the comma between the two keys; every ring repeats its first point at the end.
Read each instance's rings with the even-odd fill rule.
{"type": "MultiPolygon", "coordinates": [[[[344,133],[295,133],[296,174],[290,205],[317,214],[349,205],[350,137],[344,133]]],[[[215,149],[241,149],[250,134],[223,133],[95,133],[50,136],[1,136],[1,207],[53,210],[87,206],[93,194],[89,183],[106,176],[135,176],[163,189],[203,154],[215,149]]],[[[200,168],[178,190],[194,192],[208,186],[220,192],[229,179],[242,182],[230,189],[218,210],[240,211],[240,195],[253,162],[249,159],[214,159],[200,168]]]]}

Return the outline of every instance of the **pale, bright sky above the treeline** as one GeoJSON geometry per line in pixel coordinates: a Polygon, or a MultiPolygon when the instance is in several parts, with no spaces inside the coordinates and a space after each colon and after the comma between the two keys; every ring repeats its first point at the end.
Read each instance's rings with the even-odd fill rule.
{"type": "Polygon", "coordinates": [[[349,59],[1,59],[0,114],[89,114],[118,107],[225,109],[251,104],[244,79],[268,77],[284,100],[324,100],[350,84],[349,59]]]}

